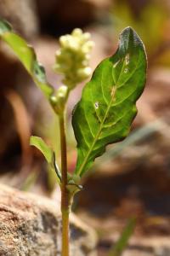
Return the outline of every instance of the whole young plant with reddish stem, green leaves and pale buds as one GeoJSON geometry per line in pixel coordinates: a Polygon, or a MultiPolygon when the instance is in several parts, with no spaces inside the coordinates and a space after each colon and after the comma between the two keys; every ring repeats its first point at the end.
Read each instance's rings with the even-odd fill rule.
{"type": "Polygon", "coordinates": [[[144,90],[146,54],[144,44],[131,27],[125,28],[116,53],[101,61],[92,79],[84,86],[82,98],[72,115],[77,140],[77,165],[73,174],[67,172],[65,111],[72,89],[91,73],[89,53],[93,48],[88,33],[75,29],[71,35],[59,38],[54,70],[63,75],[58,90],[48,83],[45,70],[37,61],[34,49],[13,32],[5,20],[0,20],[0,37],[5,41],[31,74],[51,107],[59,117],[61,170],[55,153],[40,137],[31,137],[31,145],[42,151],[49,166],[56,172],[61,189],[62,248],[69,255],[69,213],[74,195],[82,189],[81,178],[94,160],[105,153],[106,145],[127,137],[137,113],[136,102],[144,90]]]}

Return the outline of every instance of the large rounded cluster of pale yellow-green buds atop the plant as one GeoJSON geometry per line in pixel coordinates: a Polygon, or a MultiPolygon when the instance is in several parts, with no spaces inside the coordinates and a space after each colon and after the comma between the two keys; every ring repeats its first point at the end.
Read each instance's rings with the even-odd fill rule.
{"type": "Polygon", "coordinates": [[[81,29],[76,28],[71,35],[61,36],[59,44],[54,70],[63,74],[63,84],[72,89],[88,79],[92,73],[89,67],[89,53],[94,47],[94,42],[90,40],[88,32],[83,33],[81,29]]]}

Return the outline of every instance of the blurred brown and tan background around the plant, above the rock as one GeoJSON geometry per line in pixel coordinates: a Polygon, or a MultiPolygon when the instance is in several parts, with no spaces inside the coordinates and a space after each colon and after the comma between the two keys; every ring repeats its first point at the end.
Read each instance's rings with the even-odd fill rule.
{"type": "MultiPolygon", "coordinates": [[[[170,2],[168,0],[0,0],[7,19],[37,51],[50,83],[60,35],[75,27],[91,32],[93,69],[117,47],[118,34],[132,26],[144,41],[148,75],[139,113],[122,143],[111,145],[83,180],[73,206],[99,235],[99,256],[119,238],[129,218],[136,227],[123,255],[170,255],[170,2]]],[[[42,154],[29,146],[37,135],[59,160],[58,120],[20,62],[0,42],[0,183],[56,198],[59,188],[42,154]]],[[[71,111],[83,84],[68,102],[68,163],[77,160],[71,111]]]]}

